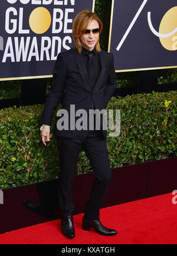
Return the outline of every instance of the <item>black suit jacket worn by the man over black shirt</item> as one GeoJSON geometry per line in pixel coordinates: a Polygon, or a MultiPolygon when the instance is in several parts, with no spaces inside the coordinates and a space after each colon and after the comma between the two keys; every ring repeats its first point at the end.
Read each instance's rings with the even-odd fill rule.
{"type": "MultiPolygon", "coordinates": [[[[99,56],[101,72],[94,89],[91,91],[82,54],[79,54],[76,48],[58,54],[51,90],[40,119],[41,124],[51,125],[54,111],[59,103],[63,104],[63,109],[67,109],[69,119],[71,104],[75,104],[76,111],[77,109],[85,109],[89,112],[91,98],[96,109],[101,111],[101,109],[106,108],[117,86],[116,74],[113,54],[101,50],[99,56]]],[[[104,138],[106,138],[106,130],[102,129],[102,122],[101,131],[103,131],[104,138]]],[[[77,129],[59,131],[55,128],[55,135],[74,138],[79,137],[80,131],[77,129]]]]}

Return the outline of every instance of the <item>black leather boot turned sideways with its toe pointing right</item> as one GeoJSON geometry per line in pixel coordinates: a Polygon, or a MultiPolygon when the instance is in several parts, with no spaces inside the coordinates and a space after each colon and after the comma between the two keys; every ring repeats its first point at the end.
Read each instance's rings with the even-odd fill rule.
{"type": "Polygon", "coordinates": [[[100,221],[88,221],[83,217],[83,229],[90,231],[91,228],[94,228],[94,230],[100,235],[111,236],[117,234],[116,230],[106,228],[106,226],[103,226],[100,221]]]}

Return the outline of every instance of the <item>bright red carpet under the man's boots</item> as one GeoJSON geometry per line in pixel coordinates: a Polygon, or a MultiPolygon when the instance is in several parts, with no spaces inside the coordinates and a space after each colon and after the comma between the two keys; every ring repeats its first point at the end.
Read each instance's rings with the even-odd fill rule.
{"type": "Polygon", "coordinates": [[[83,231],[83,214],[74,216],[76,238],[61,234],[61,220],[41,223],[0,235],[0,244],[177,244],[177,204],[172,193],[100,210],[103,225],[118,231],[101,236],[83,231]]]}

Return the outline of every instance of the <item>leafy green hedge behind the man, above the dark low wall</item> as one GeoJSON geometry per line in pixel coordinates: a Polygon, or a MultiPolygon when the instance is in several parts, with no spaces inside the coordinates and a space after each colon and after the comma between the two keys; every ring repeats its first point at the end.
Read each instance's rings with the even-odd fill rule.
{"type": "MultiPolygon", "coordinates": [[[[119,137],[107,137],[112,168],[121,167],[123,162],[136,164],[177,155],[176,96],[175,91],[112,98],[107,109],[120,109],[121,113],[119,137]]],[[[43,108],[44,105],[14,106],[0,111],[1,189],[58,177],[55,138],[47,147],[40,138],[38,120],[43,108]]],[[[52,127],[54,123],[55,117],[52,127]]],[[[81,151],[77,174],[88,171],[89,160],[81,151]]]]}

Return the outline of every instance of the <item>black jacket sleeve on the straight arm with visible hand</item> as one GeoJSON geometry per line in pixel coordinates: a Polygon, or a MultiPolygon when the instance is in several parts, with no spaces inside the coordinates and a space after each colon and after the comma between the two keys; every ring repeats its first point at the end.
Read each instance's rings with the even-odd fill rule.
{"type": "Polygon", "coordinates": [[[51,125],[53,115],[59,103],[63,103],[64,83],[66,77],[66,67],[61,53],[58,54],[55,62],[53,80],[50,93],[48,93],[44,110],[40,118],[40,124],[51,125]]]}

